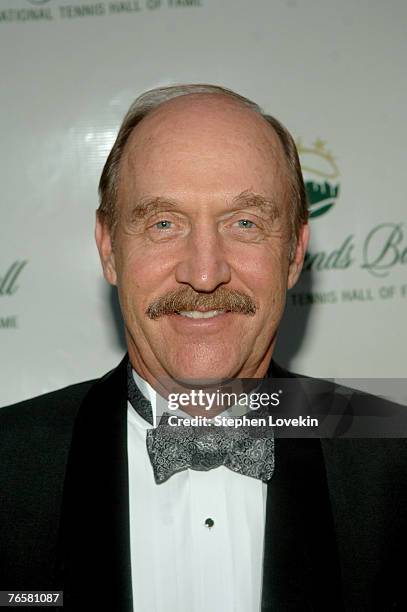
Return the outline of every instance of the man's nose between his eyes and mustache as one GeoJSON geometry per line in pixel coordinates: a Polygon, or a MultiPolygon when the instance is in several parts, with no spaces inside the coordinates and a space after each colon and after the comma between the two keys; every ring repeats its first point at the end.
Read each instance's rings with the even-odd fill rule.
{"type": "Polygon", "coordinates": [[[230,281],[231,268],[216,227],[205,225],[191,231],[175,278],[201,292],[214,291],[230,281]]]}

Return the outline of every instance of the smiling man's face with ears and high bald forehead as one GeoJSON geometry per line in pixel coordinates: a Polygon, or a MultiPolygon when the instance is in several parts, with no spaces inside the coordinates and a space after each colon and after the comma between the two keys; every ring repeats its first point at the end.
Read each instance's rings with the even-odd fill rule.
{"type": "Polygon", "coordinates": [[[307,237],[290,264],[288,187],[272,128],[222,96],[171,100],[135,128],[113,248],[100,220],[96,236],[149,382],[265,374],[307,237]]]}

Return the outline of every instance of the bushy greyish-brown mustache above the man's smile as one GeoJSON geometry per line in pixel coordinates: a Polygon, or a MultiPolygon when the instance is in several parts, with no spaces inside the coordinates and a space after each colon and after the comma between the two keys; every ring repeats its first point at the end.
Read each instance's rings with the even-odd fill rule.
{"type": "Polygon", "coordinates": [[[199,293],[191,287],[184,287],[155,299],[147,308],[146,315],[158,319],[182,310],[229,310],[254,315],[256,304],[246,293],[222,286],[212,293],[199,293]]]}

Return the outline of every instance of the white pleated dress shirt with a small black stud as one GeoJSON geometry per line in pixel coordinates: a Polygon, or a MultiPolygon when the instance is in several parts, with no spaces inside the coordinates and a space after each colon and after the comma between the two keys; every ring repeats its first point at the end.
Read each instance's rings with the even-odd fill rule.
{"type": "MultiPolygon", "coordinates": [[[[155,422],[156,393],[133,375],[155,422]]],[[[223,466],[156,484],[146,448],[151,427],[129,403],[134,612],[259,612],[267,486],[223,466]]]]}

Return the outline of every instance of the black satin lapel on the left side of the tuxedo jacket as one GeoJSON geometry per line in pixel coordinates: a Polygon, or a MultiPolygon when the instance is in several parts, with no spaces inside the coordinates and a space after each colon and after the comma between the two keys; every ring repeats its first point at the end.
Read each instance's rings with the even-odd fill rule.
{"type": "Polygon", "coordinates": [[[64,610],[132,610],[127,359],[93,385],[75,421],[57,567],[64,610]]]}

